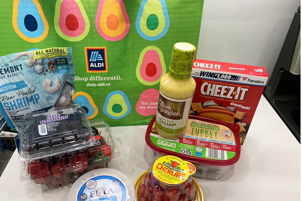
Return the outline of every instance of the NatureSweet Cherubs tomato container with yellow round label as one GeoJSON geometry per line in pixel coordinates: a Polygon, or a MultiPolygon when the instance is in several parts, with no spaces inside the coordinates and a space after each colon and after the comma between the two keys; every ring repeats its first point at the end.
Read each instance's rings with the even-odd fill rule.
{"type": "Polygon", "coordinates": [[[201,188],[191,176],[195,170],[175,156],[158,158],[134,182],[135,201],[202,201],[201,188]]]}

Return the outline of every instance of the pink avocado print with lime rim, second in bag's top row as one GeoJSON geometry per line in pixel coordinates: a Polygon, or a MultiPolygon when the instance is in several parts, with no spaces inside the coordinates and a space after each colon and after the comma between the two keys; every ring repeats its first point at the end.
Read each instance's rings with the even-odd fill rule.
{"type": "Polygon", "coordinates": [[[72,42],[84,39],[90,29],[80,0],[57,0],[53,24],[61,38],[72,42]]]}

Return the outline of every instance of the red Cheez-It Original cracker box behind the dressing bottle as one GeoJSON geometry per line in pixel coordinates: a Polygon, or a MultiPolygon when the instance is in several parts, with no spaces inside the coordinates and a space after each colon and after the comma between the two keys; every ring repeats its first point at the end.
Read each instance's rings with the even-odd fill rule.
{"type": "Polygon", "coordinates": [[[194,59],[191,114],[237,123],[241,145],[268,76],[264,67],[194,59]]]}

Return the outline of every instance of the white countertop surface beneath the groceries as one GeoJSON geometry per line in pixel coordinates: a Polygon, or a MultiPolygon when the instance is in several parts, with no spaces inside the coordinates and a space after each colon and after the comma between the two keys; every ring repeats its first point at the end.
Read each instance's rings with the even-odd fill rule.
{"type": "MultiPolygon", "coordinates": [[[[146,125],[112,127],[122,152],[115,168],[133,182],[151,162],[145,143],[146,125]]],[[[21,184],[15,151],[0,177],[0,200],[67,200],[69,186],[40,192],[33,183],[21,184]]],[[[261,97],[239,161],[220,180],[196,178],[205,201],[300,200],[300,144],[274,109],[261,97]]]]}

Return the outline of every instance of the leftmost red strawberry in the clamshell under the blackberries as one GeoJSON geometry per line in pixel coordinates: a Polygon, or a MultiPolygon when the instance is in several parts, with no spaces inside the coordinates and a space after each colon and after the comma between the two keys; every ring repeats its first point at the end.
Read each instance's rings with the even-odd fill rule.
{"type": "Polygon", "coordinates": [[[28,173],[31,178],[39,184],[50,183],[50,177],[52,175],[50,162],[47,161],[31,161],[27,167],[28,173]]]}

